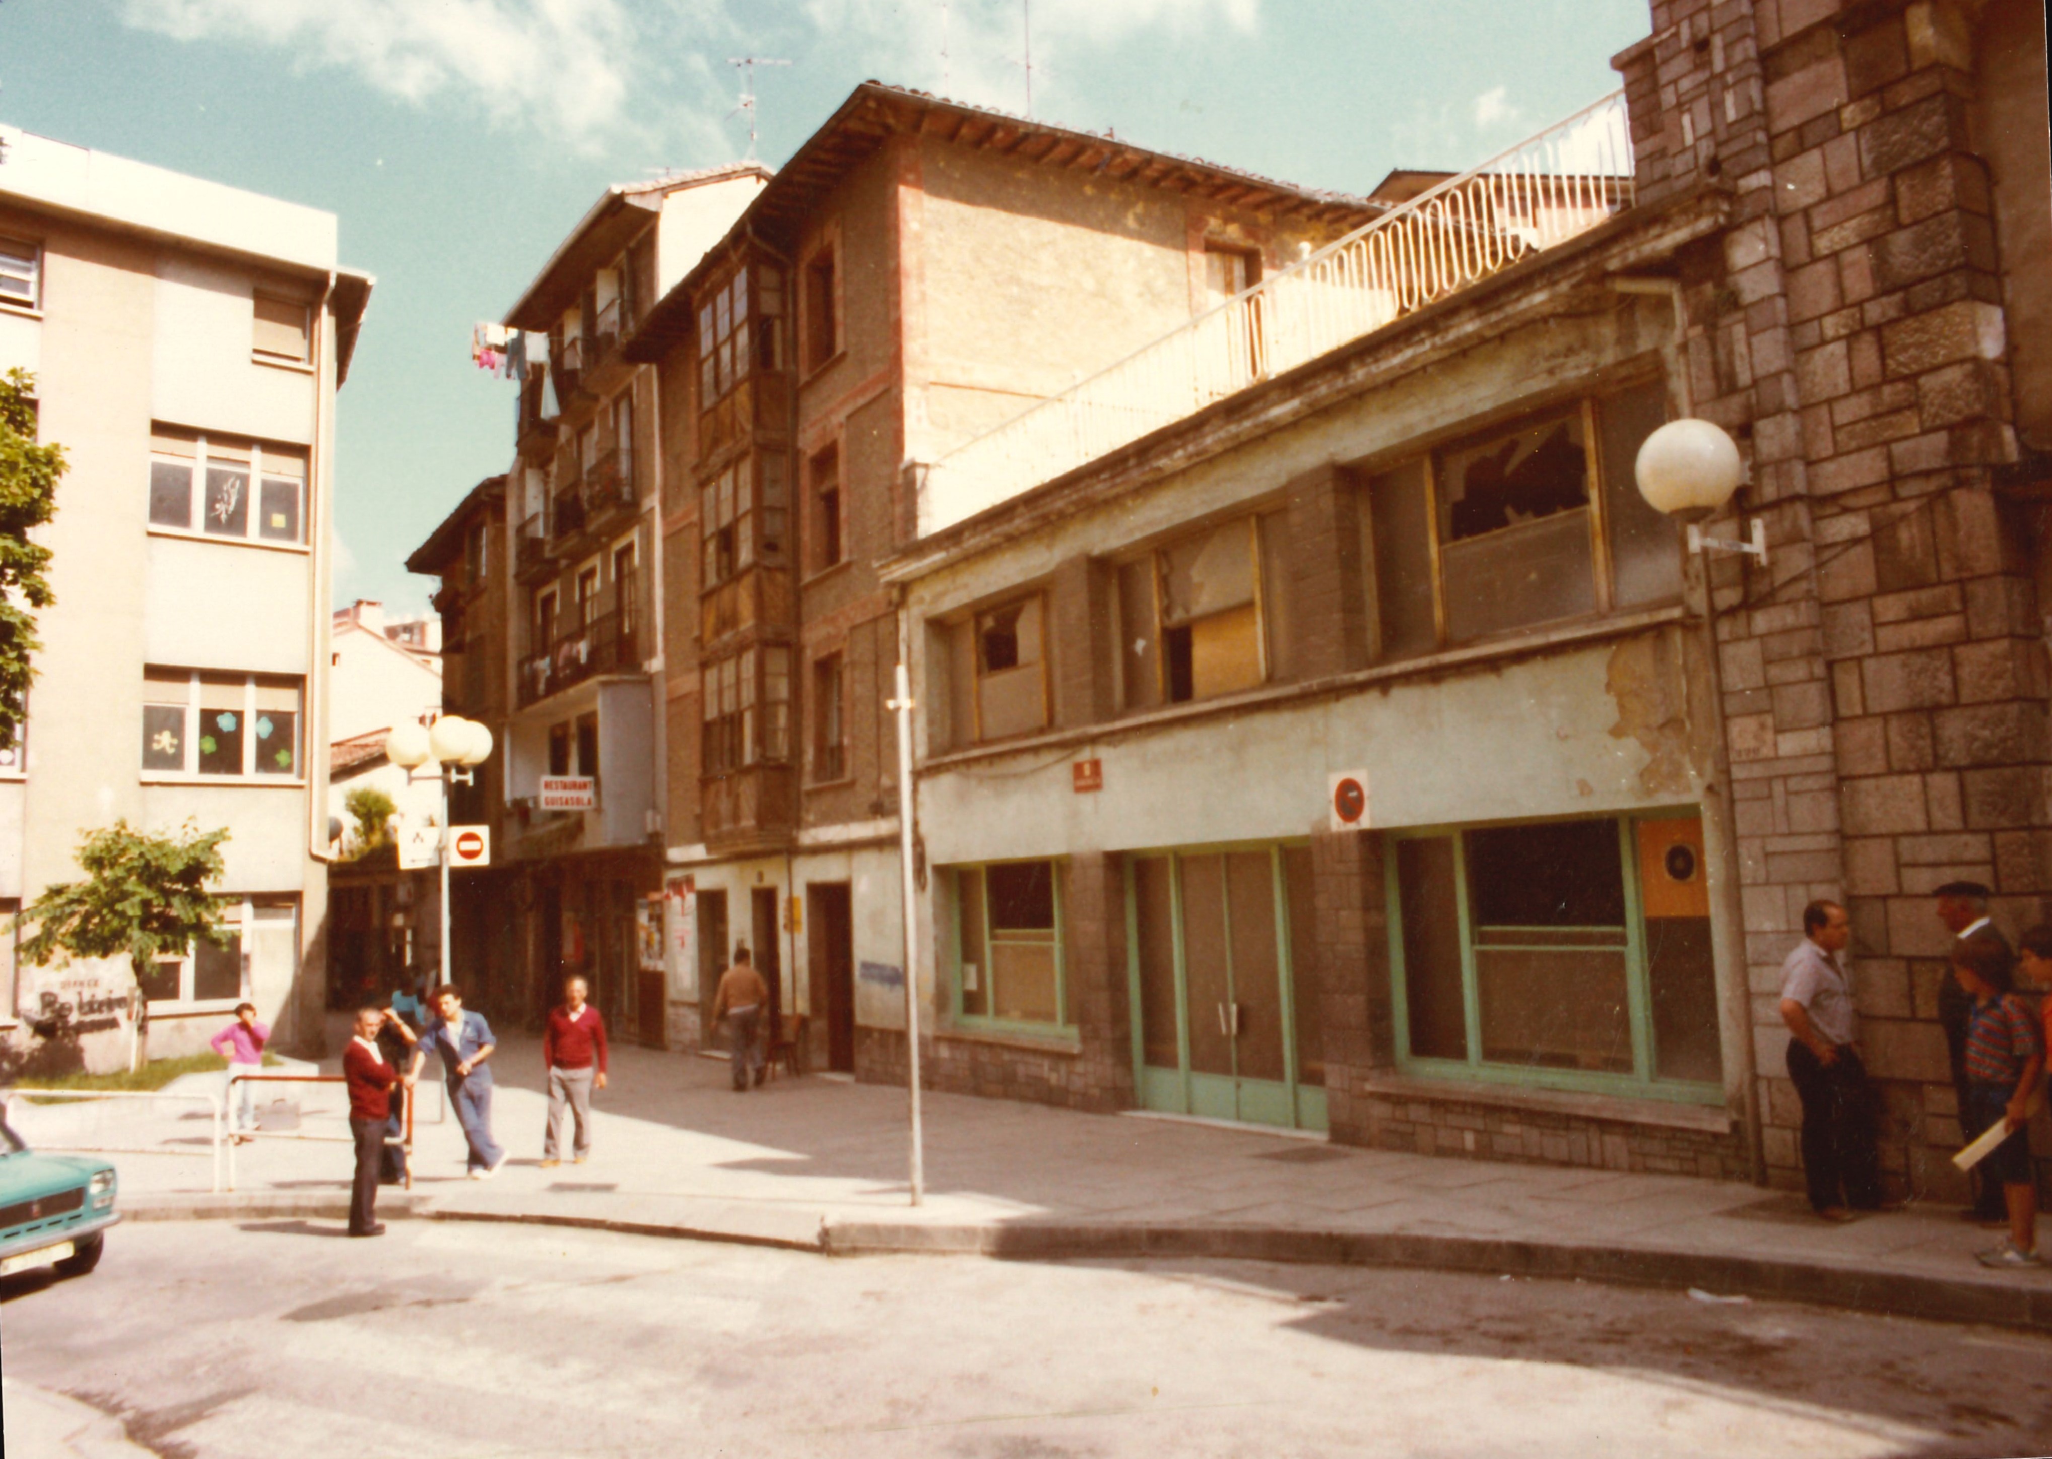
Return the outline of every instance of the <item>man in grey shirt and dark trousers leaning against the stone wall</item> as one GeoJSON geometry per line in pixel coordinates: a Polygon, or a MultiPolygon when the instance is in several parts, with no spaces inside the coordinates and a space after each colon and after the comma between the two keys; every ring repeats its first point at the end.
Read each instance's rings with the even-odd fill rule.
{"type": "Polygon", "coordinates": [[[1873,1149],[1873,1086],[1853,1040],[1853,991],[1839,954],[1853,940],[1845,907],[1802,909],[1804,940],[1781,964],[1781,1022],[1789,1026],[1789,1079],[1802,1098],[1802,1166],[1810,1209],[1826,1221],[1882,1209],[1873,1149]]]}

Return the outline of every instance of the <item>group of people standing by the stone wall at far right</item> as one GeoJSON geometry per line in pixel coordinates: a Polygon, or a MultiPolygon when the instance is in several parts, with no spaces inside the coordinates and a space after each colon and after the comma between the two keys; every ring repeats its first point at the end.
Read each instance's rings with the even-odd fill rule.
{"type": "MultiPolygon", "coordinates": [[[[2031,928],[2019,948],[1988,919],[1988,889],[1945,882],[1937,917],[1951,936],[1937,989],[1954,1098],[1966,1141],[2001,1125],[2007,1135],[1972,1170],[1974,1200],[1962,1217],[2009,1227],[1980,1252],[1984,1266],[2038,1266],[2038,1182],[2029,1118],[2040,1102],[2052,997],[2034,1008],[2017,973],[2052,989],[2052,928],[2031,928]]],[[[1781,967],[1781,1020],[1789,1028],[1787,1069],[1802,1100],[1802,1161],[1810,1207],[1826,1221],[1855,1211],[1890,1211],[1876,1149],[1878,1096],[1859,1053],[1853,991],[1841,956],[1853,940],[1839,903],[1804,909],[1804,940],[1781,967]]]]}

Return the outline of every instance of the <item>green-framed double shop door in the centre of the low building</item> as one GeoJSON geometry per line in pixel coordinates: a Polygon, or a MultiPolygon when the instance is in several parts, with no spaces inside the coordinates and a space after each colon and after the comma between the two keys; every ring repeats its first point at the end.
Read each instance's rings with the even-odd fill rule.
{"type": "Polygon", "coordinates": [[[1129,866],[1141,1104],[1324,1129],[1309,847],[1176,852],[1129,866]]]}

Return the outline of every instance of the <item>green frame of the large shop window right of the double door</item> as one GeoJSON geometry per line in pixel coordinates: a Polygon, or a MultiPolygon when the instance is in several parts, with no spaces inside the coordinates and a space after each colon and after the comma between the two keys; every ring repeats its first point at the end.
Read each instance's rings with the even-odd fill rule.
{"type": "MultiPolygon", "coordinates": [[[[1658,1051],[1656,1051],[1656,991],[1652,958],[1648,954],[1648,913],[1646,913],[1646,886],[1642,884],[1642,843],[1637,827],[1646,823],[1672,823],[1672,821],[1697,821],[1699,811],[1695,806],[1672,806],[1658,811],[1640,811],[1615,817],[1564,817],[1560,821],[1525,821],[1525,823],[1492,823],[1492,825],[1447,825],[1447,827],[1418,827],[1406,831],[1387,833],[1387,856],[1383,858],[1385,893],[1389,907],[1389,993],[1391,993],[1391,1022],[1395,1034],[1395,1063],[1397,1069],[1408,1075],[1430,1077],[1430,1079],[1467,1079],[1479,1083],[1510,1083],[1529,1086],[1543,1090],[1572,1090],[1582,1094],[1611,1094],[1637,1100],[1666,1100],[1674,1104],[1724,1104],[1724,1083],[1720,1079],[1691,1079],[1660,1075],[1658,1051]],[[1473,833],[1504,831],[1518,827],[1539,827],[1539,825],[1572,825],[1576,821],[1609,821],[1617,829],[1617,854],[1621,872],[1621,893],[1623,893],[1623,925],[1484,925],[1475,909],[1475,884],[1471,878],[1469,858],[1471,858],[1471,837],[1473,833]],[[1453,930],[1457,936],[1455,948],[1438,946],[1436,954],[1441,958],[1459,954],[1459,1010],[1451,1008],[1451,985],[1438,989],[1438,1008],[1430,1008],[1430,997],[1424,989],[1418,989],[1420,997],[1414,997],[1410,969],[1406,967],[1406,897],[1404,897],[1404,864],[1406,845],[1420,843],[1441,843],[1445,850],[1438,856],[1451,856],[1451,891],[1453,891],[1453,921],[1438,928],[1438,942],[1445,944],[1445,932],[1453,930]],[[1479,971],[1482,956],[1504,956],[1514,960],[1525,956],[1529,962],[1539,962],[1549,954],[1562,952],[1590,952],[1599,960],[1607,954],[1621,954],[1623,962],[1623,1008],[1627,1016],[1629,1030],[1629,1069],[1596,1069],[1596,1067],[1560,1067],[1553,1063],[1543,1063],[1539,1059],[1529,1063],[1516,1063],[1510,1059],[1490,1059],[1486,1053],[1484,1036],[1484,977],[1479,971]],[[1479,956],[1477,956],[1479,954],[1479,956]],[[1459,1020],[1459,1044],[1463,1049],[1461,1057],[1449,1057],[1445,1053],[1414,1053],[1412,1042],[1420,1028],[1412,1020],[1412,1003],[1420,1003],[1422,1022],[1426,1026],[1428,1038],[1451,1038],[1455,1034],[1453,1018],[1459,1020]],[[1432,1030],[1432,1020],[1438,1020],[1438,1028],[1432,1030]]],[[[1422,858],[1412,858],[1416,860],[1422,858]]],[[[1697,868],[1697,876],[1707,872],[1697,868]]],[[[1416,901],[1424,901],[1418,897],[1416,901]]],[[[1420,907],[1420,913],[1424,909],[1420,907]]],[[[1441,909],[1445,913],[1445,909],[1441,909]]],[[[1426,917],[1420,915],[1420,944],[1430,954],[1432,932],[1426,930],[1426,917]]],[[[1701,919],[1705,923],[1705,950],[1707,956],[1707,915],[1701,919]]],[[[1674,987],[1668,983],[1666,987],[1674,987]]],[[[1709,1016],[1718,1016],[1718,993],[1715,975],[1711,973],[1709,989],[1697,989],[1697,995],[1709,993],[1711,1008],[1709,1016]]],[[[1697,1010],[1701,1012],[1701,1010],[1697,1010]]],[[[1722,1030],[1715,1042],[1722,1049],[1722,1030]]],[[[1701,1059],[1701,1051],[1697,1053],[1701,1059]]],[[[1722,1055],[1720,1055],[1722,1059],[1722,1055]]]]}

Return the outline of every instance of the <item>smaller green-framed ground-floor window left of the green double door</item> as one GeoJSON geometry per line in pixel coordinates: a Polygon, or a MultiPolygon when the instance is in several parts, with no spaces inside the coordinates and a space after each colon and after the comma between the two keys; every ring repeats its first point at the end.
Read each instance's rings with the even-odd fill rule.
{"type": "Polygon", "coordinates": [[[948,1012],[964,1028],[991,1028],[999,1032],[1026,1034],[1073,1034],[1075,1022],[1069,1014],[1069,964],[1067,925],[1063,911],[1063,886],[1067,882],[1067,862],[1057,858],[1022,858],[1010,862],[977,862],[973,866],[948,868],[950,917],[948,952],[952,969],[948,977],[948,1012]],[[1030,868],[1047,868],[1047,928],[1016,925],[1040,921],[1036,909],[1038,889],[1032,884],[1030,868]],[[991,876],[999,878],[993,897],[991,876]],[[1010,882],[1010,884],[1008,884],[1010,882]],[[1005,907],[1005,911],[997,911],[1005,907]],[[999,917],[1014,925],[999,925],[999,917]],[[1005,991],[1005,977],[999,975],[999,958],[1012,962],[1012,985],[1018,985],[1020,964],[1032,967],[1040,950],[1053,969],[1053,987],[1040,995],[1047,1018],[1018,1012],[997,1012],[997,999],[1005,991]]]}

